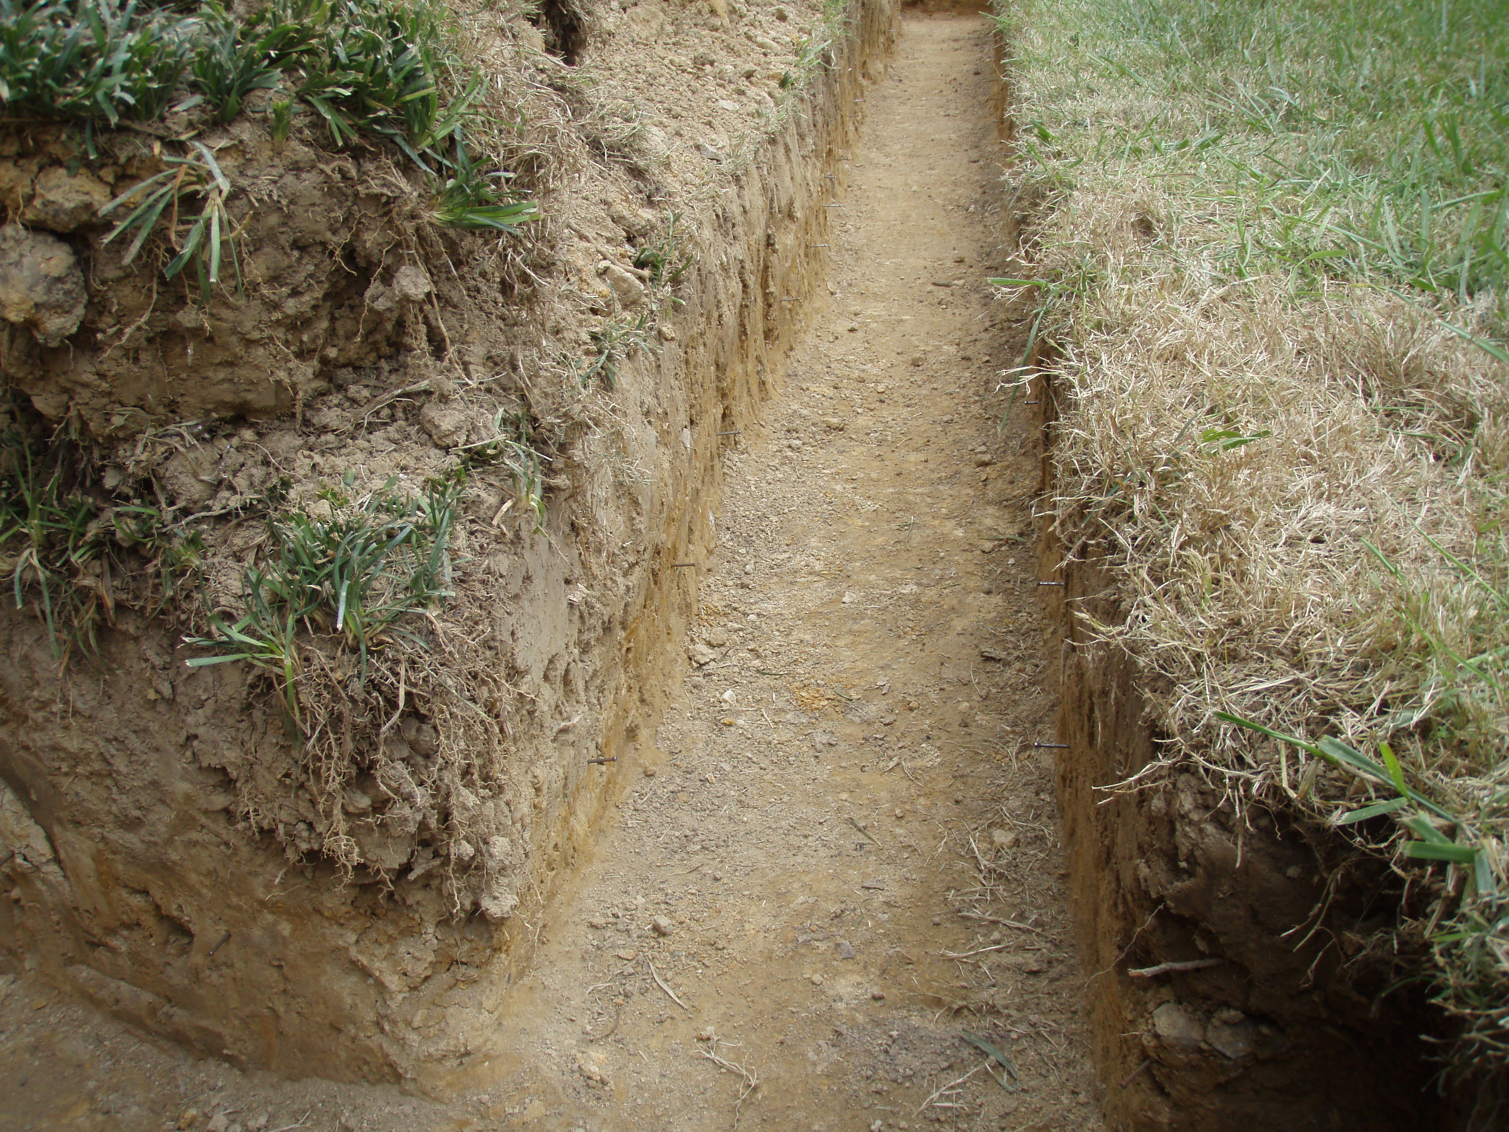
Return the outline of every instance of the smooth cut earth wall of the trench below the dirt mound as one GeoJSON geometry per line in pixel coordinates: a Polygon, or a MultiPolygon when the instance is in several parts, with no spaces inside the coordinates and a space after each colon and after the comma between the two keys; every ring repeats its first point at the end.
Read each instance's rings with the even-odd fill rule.
{"type": "MultiPolygon", "coordinates": [[[[122,613],[100,658],[60,672],[35,622],[0,634],[0,952],[154,1034],[291,1076],[439,1090],[489,1050],[542,915],[652,741],[715,540],[717,433],[754,423],[821,279],[830,190],[862,86],[895,32],[860,0],[782,128],[700,213],[675,340],[619,374],[628,492],[567,462],[548,537],[521,533],[493,634],[539,693],[512,727],[498,804],[518,841],[515,913],[456,918],[423,878],[343,881],[232,817],[235,767],[276,765],[276,711],[238,666],[190,670],[122,613]],[[619,536],[582,546],[581,531],[619,536]],[[582,593],[587,601],[573,601],[582,593]],[[566,724],[566,726],[561,726],[566,724]],[[255,756],[255,758],[254,758],[255,756]],[[587,758],[616,759],[589,764],[587,758]],[[229,768],[229,770],[228,770],[229,768]]],[[[499,646],[501,663],[501,646],[499,646]]]]}

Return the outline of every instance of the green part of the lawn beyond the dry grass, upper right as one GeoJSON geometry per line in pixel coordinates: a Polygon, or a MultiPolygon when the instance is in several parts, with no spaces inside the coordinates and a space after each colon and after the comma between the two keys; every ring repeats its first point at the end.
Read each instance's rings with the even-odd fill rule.
{"type": "MultiPolygon", "coordinates": [[[[1065,6],[1067,8],[1067,6],[1065,6]]],[[[1219,279],[1452,297],[1509,282],[1509,5],[1080,5],[1022,148],[1050,180],[1166,178],[1219,279]],[[1108,97],[1109,122],[1083,112],[1108,97]]],[[[1026,15],[1022,17],[1022,23],[1026,15]]],[[[1065,23],[1062,30],[1068,30],[1065,23]]],[[[1035,60],[1032,63],[1037,66],[1035,60]]],[[[1501,347],[1500,347],[1501,349],[1501,347]]]]}

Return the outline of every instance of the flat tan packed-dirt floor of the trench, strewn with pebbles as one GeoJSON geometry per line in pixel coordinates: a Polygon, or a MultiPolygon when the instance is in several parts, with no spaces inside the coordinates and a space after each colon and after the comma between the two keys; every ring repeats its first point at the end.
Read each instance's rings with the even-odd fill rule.
{"type": "Polygon", "coordinates": [[[1000,429],[1020,331],[984,282],[1007,267],[990,51],[984,18],[908,17],[866,97],[827,293],[727,438],[684,688],[531,925],[512,1055],[439,1103],[291,1084],[23,981],[0,1126],[1102,1127],[1032,746],[1055,703],[1034,444],[1000,429]]]}

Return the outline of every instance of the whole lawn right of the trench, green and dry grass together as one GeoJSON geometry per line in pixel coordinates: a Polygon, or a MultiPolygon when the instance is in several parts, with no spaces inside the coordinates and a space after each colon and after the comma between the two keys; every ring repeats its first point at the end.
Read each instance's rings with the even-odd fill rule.
{"type": "Polygon", "coordinates": [[[1509,1064],[1509,3],[1023,0],[1013,287],[1166,767],[1432,894],[1453,1073],[1509,1064]],[[1376,752],[1367,755],[1364,752],[1376,752]],[[1423,871],[1429,869],[1429,874],[1423,871]]]}

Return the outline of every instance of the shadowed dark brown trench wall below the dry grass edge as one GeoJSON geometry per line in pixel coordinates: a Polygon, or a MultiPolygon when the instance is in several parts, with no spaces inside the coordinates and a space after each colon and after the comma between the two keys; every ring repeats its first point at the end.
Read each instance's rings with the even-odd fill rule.
{"type": "MultiPolygon", "coordinates": [[[[1041,406],[1053,491],[1058,397],[1041,406]]],[[[1447,1127],[1421,996],[1361,940],[1397,900],[1393,875],[1325,829],[1159,758],[1136,658],[1091,622],[1124,617],[1114,548],[1046,527],[1041,587],[1061,628],[1058,795],[1088,975],[1094,1057],[1114,1129],[1447,1127]],[[1188,963],[1133,977],[1165,963],[1188,963]]]]}

